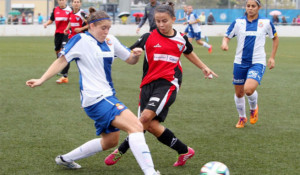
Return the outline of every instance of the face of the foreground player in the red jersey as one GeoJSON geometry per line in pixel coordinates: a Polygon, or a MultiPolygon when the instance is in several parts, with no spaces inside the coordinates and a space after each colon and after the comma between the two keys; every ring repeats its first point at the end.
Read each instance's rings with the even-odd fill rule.
{"type": "Polygon", "coordinates": [[[172,35],[173,32],[173,23],[176,18],[171,17],[168,13],[155,13],[155,23],[159,31],[167,36],[172,35]]]}

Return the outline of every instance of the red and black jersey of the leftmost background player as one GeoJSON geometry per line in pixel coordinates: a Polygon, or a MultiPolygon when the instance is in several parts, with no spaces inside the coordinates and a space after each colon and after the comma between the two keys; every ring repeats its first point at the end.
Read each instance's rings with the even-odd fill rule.
{"type": "Polygon", "coordinates": [[[72,9],[69,6],[64,9],[61,9],[59,6],[57,6],[53,9],[50,20],[55,21],[55,33],[64,33],[64,30],[69,24],[69,17],[71,12],[72,9]]]}

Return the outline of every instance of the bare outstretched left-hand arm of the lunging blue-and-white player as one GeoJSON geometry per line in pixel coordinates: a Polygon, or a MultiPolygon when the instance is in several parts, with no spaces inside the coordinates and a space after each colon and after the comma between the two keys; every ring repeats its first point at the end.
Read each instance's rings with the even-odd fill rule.
{"type": "Polygon", "coordinates": [[[48,70],[43,74],[43,76],[39,79],[31,79],[26,81],[26,85],[34,88],[36,86],[41,86],[45,81],[59,73],[63,68],[67,66],[68,62],[65,56],[61,56],[60,58],[56,59],[48,70]]]}

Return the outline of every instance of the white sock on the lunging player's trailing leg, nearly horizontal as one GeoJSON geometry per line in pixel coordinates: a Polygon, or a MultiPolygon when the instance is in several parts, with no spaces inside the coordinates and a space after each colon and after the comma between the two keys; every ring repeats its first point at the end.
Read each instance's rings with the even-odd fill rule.
{"type": "Polygon", "coordinates": [[[101,138],[93,139],[73,151],[62,155],[66,162],[72,162],[75,160],[83,159],[102,151],[102,145],[100,143],[101,138]]]}

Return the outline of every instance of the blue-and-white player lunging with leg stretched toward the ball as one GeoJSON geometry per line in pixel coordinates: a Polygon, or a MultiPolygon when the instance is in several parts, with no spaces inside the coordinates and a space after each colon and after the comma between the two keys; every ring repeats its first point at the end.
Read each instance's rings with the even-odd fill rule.
{"type": "Polygon", "coordinates": [[[62,70],[68,62],[76,60],[80,73],[82,107],[94,120],[96,133],[101,134],[101,138],[90,140],[67,154],[59,155],[55,161],[68,168],[81,168],[74,161],[116,146],[120,135],[119,129],[122,129],[129,134],[131,150],[144,174],[156,175],[145,142],[143,126],[115,97],[116,92],[111,79],[111,65],[115,55],[128,64],[135,64],[142,49],[135,48],[130,53],[114,36],[108,35],[111,20],[103,11],[91,14],[88,25],[88,32],[75,35],[40,79],[26,82],[26,85],[32,88],[40,86],[62,70]]]}

